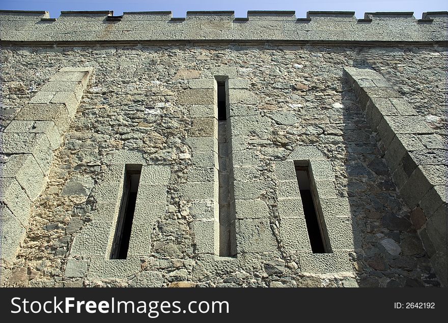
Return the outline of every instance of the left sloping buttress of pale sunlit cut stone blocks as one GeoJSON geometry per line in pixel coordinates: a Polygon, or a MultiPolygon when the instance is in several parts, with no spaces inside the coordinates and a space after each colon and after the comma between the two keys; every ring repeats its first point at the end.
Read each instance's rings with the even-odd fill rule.
{"type": "MultiPolygon", "coordinates": [[[[30,17],[42,15],[29,12],[30,17]]],[[[45,13],[43,14],[45,16],[45,13]]],[[[53,151],[61,145],[92,75],[92,68],[63,68],[0,134],[0,257],[13,261],[23,241],[31,204],[45,188],[53,151]]]]}

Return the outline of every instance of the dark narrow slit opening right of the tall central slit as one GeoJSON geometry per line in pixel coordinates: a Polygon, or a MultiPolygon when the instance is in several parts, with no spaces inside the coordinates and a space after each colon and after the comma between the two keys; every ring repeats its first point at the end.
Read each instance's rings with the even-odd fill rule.
{"type": "Polygon", "coordinates": [[[306,229],[310,237],[311,250],[313,253],[327,253],[322,225],[316,212],[316,204],[311,190],[309,168],[307,166],[295,165],[295,170],[303,204],[306,229]]]}

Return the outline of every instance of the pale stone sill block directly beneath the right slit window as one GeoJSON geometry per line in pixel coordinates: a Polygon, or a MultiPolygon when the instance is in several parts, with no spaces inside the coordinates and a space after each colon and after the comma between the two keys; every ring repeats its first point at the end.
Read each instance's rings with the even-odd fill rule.
{"type": "Polygon", "coordinates": [[[345,251],[333,253],[300,252],[300,269],[302,273],[337,273],[352,272],[352,262],[345,251]]]}

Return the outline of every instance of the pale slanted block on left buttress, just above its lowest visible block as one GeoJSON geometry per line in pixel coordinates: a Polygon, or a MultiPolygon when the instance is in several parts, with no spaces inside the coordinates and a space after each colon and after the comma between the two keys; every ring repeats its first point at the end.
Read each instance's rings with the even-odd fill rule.
{"type": "Polygon", "coordinates": [[[0,192],[2,192],[0,202],[7,205],[15,218],[19,220],[23,227],[26,227],[30,219],[31,201],[17,180],[14,178],[2,179],[0,192]]]}

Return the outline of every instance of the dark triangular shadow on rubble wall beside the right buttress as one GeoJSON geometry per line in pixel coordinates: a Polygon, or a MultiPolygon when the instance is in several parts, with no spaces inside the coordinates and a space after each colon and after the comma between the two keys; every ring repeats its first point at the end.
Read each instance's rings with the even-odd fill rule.
{"type": "Polygon", "coordinates": [[[381,142],[345,75],[342,91],[347,194],[358,226],[354,232],[361,234],[362,249],[355,250],[354,259],[359,286],[440,286],[383,159],[381,142]]]}

